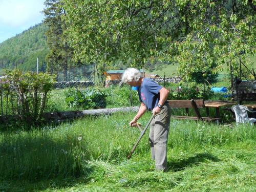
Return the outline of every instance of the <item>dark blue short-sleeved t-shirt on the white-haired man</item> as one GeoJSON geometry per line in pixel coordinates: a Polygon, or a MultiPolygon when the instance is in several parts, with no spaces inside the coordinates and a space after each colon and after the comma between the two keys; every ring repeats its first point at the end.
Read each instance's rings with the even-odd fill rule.
{"type": "Polygon", "coordinates": [[[152,111],[157,106],[160,98],[159,91],[162,88],[150,78],[143,79],[138,89],[138,95],[140,102],[146,105],[147,110],[152,111]]]}

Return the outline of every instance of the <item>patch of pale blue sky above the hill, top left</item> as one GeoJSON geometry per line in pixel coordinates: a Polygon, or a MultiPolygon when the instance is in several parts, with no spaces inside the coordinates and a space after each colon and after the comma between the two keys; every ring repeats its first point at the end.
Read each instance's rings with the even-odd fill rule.
{"type": "Polygon", "coordinates": [[[0,0],[0,43],[41,23],[45,0],[0,0]]]}

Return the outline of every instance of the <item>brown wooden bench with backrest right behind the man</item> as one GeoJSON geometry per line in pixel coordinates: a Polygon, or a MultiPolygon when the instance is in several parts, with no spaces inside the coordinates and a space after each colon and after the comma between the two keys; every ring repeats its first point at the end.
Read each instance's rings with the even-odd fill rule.
{"type": "Polygon", "coordinates": [[[199,108],[205,108],[204,100],[167,100],[170,108],[185,108],[187,116],[174,116],[172,115],[171,118],[174,119],[191,119],[191,120],[204,120],[204,121],[217,121],[219,123],[220,118],[215,117],[202,117],[199,108]],[[196,114],[196,117],[188,116],[188,109],[192,108],[196,114]]]}

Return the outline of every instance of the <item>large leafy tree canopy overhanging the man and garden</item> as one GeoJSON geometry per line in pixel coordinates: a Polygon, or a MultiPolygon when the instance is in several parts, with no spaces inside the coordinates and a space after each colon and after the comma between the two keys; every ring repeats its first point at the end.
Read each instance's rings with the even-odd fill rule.
{"type": "Polygon", "coordinates": [[[255,53],[253,0],[62,0],[76,59],[178,62],[183,79],[205,65],[255,53]]]}

